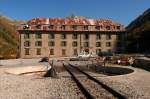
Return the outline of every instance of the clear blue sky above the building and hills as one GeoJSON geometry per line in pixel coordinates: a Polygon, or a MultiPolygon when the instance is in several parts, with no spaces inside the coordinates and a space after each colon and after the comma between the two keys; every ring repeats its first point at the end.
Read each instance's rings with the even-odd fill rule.
{"type": "Polygon", "coordinates": [[[112,19],[127,26],[148,8],[150,0],[0,0],[0,14],[14,20],[74,14],[112,19]]]}

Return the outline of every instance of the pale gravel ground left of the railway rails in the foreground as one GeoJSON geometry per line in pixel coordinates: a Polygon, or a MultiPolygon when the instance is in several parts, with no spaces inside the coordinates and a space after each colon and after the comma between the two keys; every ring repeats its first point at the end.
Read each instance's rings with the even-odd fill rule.
{"type": "Polygon", "coordinates": [[[42,78],[39,75],[12,75],[0,68],[0,99],[84,98],[70,78],[42,78]]]}

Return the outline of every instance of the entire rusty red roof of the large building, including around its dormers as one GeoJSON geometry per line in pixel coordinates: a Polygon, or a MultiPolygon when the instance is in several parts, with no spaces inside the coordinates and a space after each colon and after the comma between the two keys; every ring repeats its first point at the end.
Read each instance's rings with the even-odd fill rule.
{"type": "MultiPolygon", "coordinates": [[[[101,30],[89,30],[89,31],[125,31],[123,25],[113,22],[112,20],[106,19],[88,19],[84,17],[74,17],[74,18],[34,18],[27,22],[26,24],[29,30],[36,30],[37,26],[40,25],[40,30],[50,30],[48,29],[48,25],[54,25],[53,30],[61,31],[61,25],[88,25],[88,26],[101,26],[103,29],[101,30]],[[43,26],[42,26],[43,25],[43,26]],[[110,29],[106,29],[108,27],[110,29]],[[117,26],[120,26],[120,29],[117,29],[117,26]]],[[[20,27],[18,30],[24,30],[24,27],[20,27]]],[[[68,29],[71,31],[72,29],[68,29]]],[[[84,29],[76,30],[76,31],[84,31],[84,29]]],[[[87,30],[85,30],[87,31],[87,30]]]]}

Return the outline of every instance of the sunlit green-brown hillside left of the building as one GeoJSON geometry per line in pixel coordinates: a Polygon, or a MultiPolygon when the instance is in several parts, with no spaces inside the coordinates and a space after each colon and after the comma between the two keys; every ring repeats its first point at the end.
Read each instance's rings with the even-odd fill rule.
{"type": "Polygon", "coordinates": [[[0,59],[15,58],[18,53],[18,34],[16,32],[19,23],[0,16],[0,59]]]}

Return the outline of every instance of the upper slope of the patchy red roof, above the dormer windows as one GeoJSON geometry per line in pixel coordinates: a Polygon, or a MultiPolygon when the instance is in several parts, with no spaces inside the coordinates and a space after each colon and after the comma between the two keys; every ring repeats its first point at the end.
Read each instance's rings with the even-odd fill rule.
{"type": "Polygon", "coordinates": [[[34,18],[27,22],[29,25],[53,24],[53,25],[120,25],[111,20],[86,19],[86,18],[34,18]]]}

